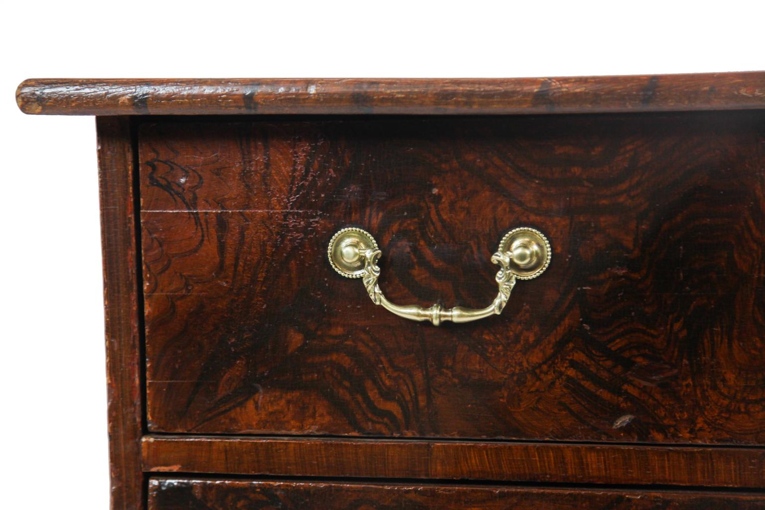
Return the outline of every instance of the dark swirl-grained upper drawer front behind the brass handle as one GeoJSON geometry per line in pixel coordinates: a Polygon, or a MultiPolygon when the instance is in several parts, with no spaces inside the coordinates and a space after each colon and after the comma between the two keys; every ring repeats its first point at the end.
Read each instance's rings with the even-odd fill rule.
{"type": "MultiPolygon", "coordinates": [[[[148,427],[651,443],[765,440],[765,116],[190,119],[139,135],[148,427]],[[327,243],[375,236],[376,307],[327,243]]],[[[159,507],[164,508],[164,507],[159,507]]]]}

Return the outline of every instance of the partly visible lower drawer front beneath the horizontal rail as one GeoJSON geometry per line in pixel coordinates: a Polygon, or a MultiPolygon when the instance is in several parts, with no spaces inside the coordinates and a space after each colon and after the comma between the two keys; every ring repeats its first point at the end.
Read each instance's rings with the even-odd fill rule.
{"type": "Polygon", "coordinates": [[[350,482],[256,481],[243,479],[152,478],[149,510],[542,510],[545,508],[765,508],[765,495],[745,492],[692,492],[612,489],[540,489],[513,486],[382,485],[350,482]]]}

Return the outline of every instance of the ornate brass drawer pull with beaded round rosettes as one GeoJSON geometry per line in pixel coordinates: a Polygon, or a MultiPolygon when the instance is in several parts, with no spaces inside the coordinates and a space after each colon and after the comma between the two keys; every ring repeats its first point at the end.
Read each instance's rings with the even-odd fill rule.
{"type": "Polygon", "coordinates": [[[550,242],[539,230],[521,227],[513,229],[502,238],[497,252],[491,256],[491,261],[500,266],[496,273],[496,283],[500,291],[492,303],[486,308],[454,307],[444,309],[440,304],[429,308],[416,305],[399,306],[392,304],[382,294],[377,278],[380,268],[377,260],[382,252],[377,248],[377,242],[369,232],[354,227],[340,229],[327,248],[330,264],[338,273],[346,278],[362,278],[364,287],[374,304],[380,304],[386,310],[396,313],[399,317],[411,320],[430,320],[438,326],[444,320],[455,323],[467,323],[483,319],[502,310],[510,297],[510,291],[515,287],[516,279],[530,280],[545,271],[550,264],[552,250],[550,242]]]}

